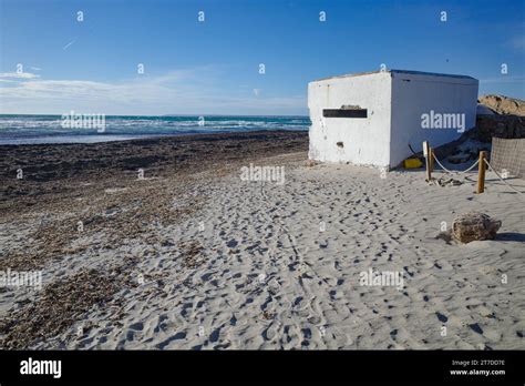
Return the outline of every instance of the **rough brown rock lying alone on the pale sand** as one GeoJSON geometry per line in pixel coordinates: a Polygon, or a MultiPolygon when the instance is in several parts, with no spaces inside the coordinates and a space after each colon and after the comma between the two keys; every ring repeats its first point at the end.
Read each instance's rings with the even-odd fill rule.
{"type": "Polygon", "coordinates": [[[491,219],[487,214],[470,212],[454,219],[452,235],[460,243],[470,243],[476,240],[492,240],[502,226],[501,221],[491,219]]]}

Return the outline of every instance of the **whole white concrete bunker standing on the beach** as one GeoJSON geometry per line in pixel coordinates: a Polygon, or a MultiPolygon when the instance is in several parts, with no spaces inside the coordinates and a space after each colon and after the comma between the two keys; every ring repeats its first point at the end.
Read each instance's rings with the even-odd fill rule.
{"type": "Polygon", "coordinates": [[[478,81],[389,70],[308,84],[309,159],[392,169],[422,142],[437,146],[474,128],[478,81]]]}

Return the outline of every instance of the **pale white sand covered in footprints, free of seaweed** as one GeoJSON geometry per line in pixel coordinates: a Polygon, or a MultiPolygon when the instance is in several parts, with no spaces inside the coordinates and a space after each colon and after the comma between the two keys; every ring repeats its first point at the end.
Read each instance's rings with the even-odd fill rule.
{"type": "MultiPolygon", "coordinates": [[[[194,192],[207,197],[202,211],[152,231],[174,245],[130,241],[116,254],[87,251],[47,270],[144,256],[145,284],[119,294],[121,308],[92,309],[62,347],[525,348],[525,205],[494,175],[476,195],[473,183],[429,186],[420,171],[381,179],[351,165],[307,167],[303,153],[267,164],[286,166],[284,185],[244,182],[240,171],[203,180],[194,192]],[[442,222],[471,210],[503,221],[498,240],[434,238],[442,222]],[[182,264],[179,241],[202,245],[202,265],[182,264]],[[402,272],[404,288],[360,285],[369,268],[402,272]]],[[[512,183],[525,191],[523,180],[512,183]]]]}

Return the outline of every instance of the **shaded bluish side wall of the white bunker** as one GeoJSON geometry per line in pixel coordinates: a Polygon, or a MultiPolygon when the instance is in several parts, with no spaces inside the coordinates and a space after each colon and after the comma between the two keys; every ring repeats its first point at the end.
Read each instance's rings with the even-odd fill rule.
{"type": "Polygon", "coordinates": [[[464,113],[465,131],[474,128],[477,87],[472,78],[392,72],[391,167],[412,154],[409,143],[419,152],[423,141],[437,146],[462,135],[455,129],[422,129],[421,115],[431,110],[464,113]]]}

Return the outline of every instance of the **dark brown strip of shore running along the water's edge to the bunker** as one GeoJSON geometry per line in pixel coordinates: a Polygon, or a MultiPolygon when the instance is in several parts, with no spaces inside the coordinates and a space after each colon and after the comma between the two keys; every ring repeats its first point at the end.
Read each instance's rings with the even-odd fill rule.
{"type": "Polygon", "coordinates": [[[307,132],[196,134],[91,144],[0,146],[0,215],[71,194],[80,182],[188,175],[233,162],[307,151],[307,132]],[[23,180],[17,180],[17,170],[23,180]]]}

